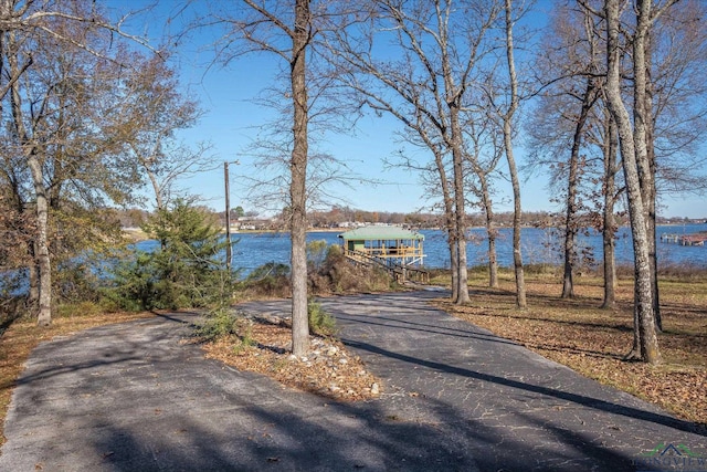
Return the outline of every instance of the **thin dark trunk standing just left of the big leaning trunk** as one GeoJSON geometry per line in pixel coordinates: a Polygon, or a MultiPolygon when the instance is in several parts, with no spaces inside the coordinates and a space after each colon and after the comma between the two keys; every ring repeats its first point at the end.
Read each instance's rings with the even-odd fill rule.
{"type": "Polygon", "coordinates": [[[614,217],[616,176],[616,127],[611,116],[604,119],[604,214],[602,242],[604,249],[604,302],[602,308],[616,305],[616,221],[614,217]]]}

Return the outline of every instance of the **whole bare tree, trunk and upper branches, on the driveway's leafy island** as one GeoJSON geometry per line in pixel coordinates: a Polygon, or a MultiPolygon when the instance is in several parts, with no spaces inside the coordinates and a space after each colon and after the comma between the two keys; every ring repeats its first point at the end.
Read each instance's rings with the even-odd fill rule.
{"type": "MultiPolygon", "coordinates": [[[[293,354],[302,356],[309,350],[307,317],[307,165],[309,162],[310,96],[308,90],[308,54],[317,33],[315,19],[326,10],[314,11],[310,0],[289,2],[243,0],[231,11],[214,12],[212,24],[226,25],[223,56],[225,62],[244,53],[274,53],[287,64],[291,99],[292,135],[288,160],[287,218],[292,238],[292,337],[293,354]],[[233,43],[245,40],[245,43],[233,43]],[[245,45],[243,45],[245,44],[245,45]]],[[[210,23],[207,21],[205,23],[210,23]]],[[[203,24],[202,24],[203,25],[203,24]]],[[[281,182],[285,183],[285,182],[281,182]]]]}

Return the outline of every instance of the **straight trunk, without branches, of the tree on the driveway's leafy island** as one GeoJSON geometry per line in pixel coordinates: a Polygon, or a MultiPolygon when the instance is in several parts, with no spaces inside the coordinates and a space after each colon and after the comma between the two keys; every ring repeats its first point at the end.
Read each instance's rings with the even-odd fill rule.
{"type": "Polygon", "coordinates": [[[309,40],[309,0],[296,0],[291,62],[294,105],[294,146],[292,150],[289,201],[292,210],[292,352],[303,356],[309,350],[307,316],[307,85],[305,52],[309,40]]]}

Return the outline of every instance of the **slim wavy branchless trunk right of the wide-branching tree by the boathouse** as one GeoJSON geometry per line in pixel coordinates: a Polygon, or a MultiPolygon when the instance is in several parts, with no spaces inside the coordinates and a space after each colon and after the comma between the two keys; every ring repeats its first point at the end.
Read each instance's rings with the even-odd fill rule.
{"type": "Polygon", "coordinates": [[[508,65],[508,77],[510,81],[510,105],[503,116],[504,120],[504,148],[506,150],[506,159],[508,160],[508,172],[510,174],[510,182],[513,186],[513,262],[516,274],[516,306],[526,308],[528,302],[526,300],[526,282],[523,270],[523,254],[520,250],[520,182],[518,180],[518,169],[513,151],[513,116],[518,108],[518,77],[516,75],[516,63],[514,60],[513,45],[513,4],[511,0],[506,0],[506,59],[508,65]]]}

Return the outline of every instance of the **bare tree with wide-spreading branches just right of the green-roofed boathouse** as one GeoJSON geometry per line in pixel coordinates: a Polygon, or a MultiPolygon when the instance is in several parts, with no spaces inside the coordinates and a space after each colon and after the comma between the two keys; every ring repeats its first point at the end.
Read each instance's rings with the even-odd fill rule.
{"type": "Polygon", "coordinates": [[[434,166],[430,168],[443,183],[453,297],[458,304],[468,303],[463,126],[472,119],[469,96],[499,9],[495,2],[471,2],[462,10],[441,0],[381,0],[374,6],[370,28],[356,33],[338,30],[331,50],[339,66],[348,71],[347,86],[374,111],[400,119],[431,150],[434,166]],[[398,60],[371,53],[386,40],[398,60]]]}

